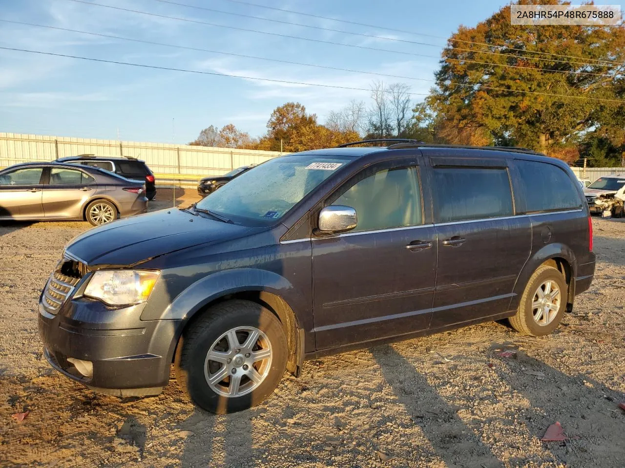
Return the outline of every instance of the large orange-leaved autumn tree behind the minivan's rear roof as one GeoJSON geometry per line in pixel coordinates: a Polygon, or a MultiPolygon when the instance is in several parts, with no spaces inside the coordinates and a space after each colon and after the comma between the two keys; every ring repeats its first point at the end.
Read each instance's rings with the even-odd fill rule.
{"type": "Polygon", "coordinates": [[[459,27],[442,57],[426,103],[449,143],[518,145],[567,159],[587,132],[624,144],[623,26],[515,26],[504,6],[476,27],[459,27]]]}

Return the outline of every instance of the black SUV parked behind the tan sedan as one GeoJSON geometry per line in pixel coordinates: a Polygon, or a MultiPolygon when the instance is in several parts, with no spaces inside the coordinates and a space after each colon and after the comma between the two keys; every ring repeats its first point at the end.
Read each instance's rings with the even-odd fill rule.
{"type": "Polygon", "coordinates": [[[121,175],[121,177],[138,180],[146,185],[146,197],[148,197],[148,200],[154,200],[154,197],[156,197],[156,181],[154,180],[154,173],[150,170],[146,162],[141,159],[81,154],[78,156],[59,158],[56,162],[99,167],[101,169],[108,170],[109,172],[121,175]]]}

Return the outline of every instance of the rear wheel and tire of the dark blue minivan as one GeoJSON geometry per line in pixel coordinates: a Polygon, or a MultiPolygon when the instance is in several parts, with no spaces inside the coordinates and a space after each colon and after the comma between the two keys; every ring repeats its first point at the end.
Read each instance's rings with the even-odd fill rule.
{"type": "Polygon", "coordinates": [[[544,336],[559,325],[566,310],[568,287],[562,273],[543,265],[527,281],[516,314],[508,319],[512,328],[530,336],[544,336]]]}

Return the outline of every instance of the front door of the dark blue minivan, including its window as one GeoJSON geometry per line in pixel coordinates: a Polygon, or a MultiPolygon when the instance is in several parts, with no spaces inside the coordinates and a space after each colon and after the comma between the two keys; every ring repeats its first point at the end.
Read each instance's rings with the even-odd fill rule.
{"type": "Polygon", "coordinates": [[[436,233],[424,225],[414,160],[367,168],[326,205],[356,210],[351,232],[312,239],[317,349],[426,329],[436,273],[436,233]]]}

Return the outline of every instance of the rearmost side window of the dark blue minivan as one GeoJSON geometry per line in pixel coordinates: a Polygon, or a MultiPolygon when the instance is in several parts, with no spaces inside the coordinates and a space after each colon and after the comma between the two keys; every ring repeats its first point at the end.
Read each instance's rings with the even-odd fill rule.
{"type": "Polygon", "coordinates": [[[514,161],[525,192],[528,213],[581,207],[581,198],[571,178],[561,168],[544,162],[514,161]]]}

